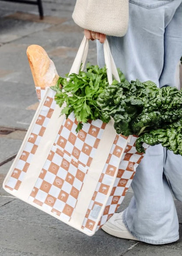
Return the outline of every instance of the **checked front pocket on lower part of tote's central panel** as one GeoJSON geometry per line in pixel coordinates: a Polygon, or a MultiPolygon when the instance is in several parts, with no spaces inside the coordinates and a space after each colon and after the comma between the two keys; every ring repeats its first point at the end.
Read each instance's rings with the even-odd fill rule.
{"type": "Polygon", "coordinates": [[[29,200],[69,221],[86,172],[86,168],[53,146],[29,200]]]}

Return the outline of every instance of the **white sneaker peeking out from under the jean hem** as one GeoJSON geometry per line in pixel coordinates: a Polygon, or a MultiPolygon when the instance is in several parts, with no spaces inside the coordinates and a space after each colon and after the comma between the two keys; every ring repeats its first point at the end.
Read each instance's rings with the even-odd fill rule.
{"type": "Polygon", "coordinates": [[[102,230],[117,238],[125,238],[139,241],[133,237],[123,223],[123,212],[115,213],[103,226],[102,230]]]}

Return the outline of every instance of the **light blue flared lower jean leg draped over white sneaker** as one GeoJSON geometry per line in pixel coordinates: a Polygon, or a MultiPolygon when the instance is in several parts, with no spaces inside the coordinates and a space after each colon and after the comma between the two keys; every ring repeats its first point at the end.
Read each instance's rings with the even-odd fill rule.
{"type": "Polygon", "coordinates": [[[134,197],[124,211],[126,227],[150,244],[179,239],[179,221],[168,181],[163,173],[165,149],[150,146],[132,181],[134,197]]]}

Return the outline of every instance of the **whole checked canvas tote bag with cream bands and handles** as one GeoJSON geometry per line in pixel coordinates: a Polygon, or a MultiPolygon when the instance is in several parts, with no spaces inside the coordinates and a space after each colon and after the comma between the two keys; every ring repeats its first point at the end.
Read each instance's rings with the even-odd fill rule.
{"type": "MultiPolygon", "coordinates": [[[[70,73],[86,61],[84,37],[70,73]]],[[[104,44],[109,84],[119,80],[109,44],[104,44]]],[[[41,99],[21,148],[7,173],[8,193],[91,236],[119,207],[143,155],[135,136],[116,134],[113,121],[84,124],[60,116],[55,91],[37,88],[41,99]]]]}

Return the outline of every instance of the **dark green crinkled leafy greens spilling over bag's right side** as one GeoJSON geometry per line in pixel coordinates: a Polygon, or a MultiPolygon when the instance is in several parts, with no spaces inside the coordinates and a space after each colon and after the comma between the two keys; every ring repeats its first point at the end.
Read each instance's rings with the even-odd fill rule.
{"type": "Polygon", "coordinates": [[[98,106],[113,117],[118,134],[137,135],[136,149],[143,143],[162,146],[182,154],[182,90],[157,88],[151,81],[124,81],[106,86],[98,96],[98,106]]]}

